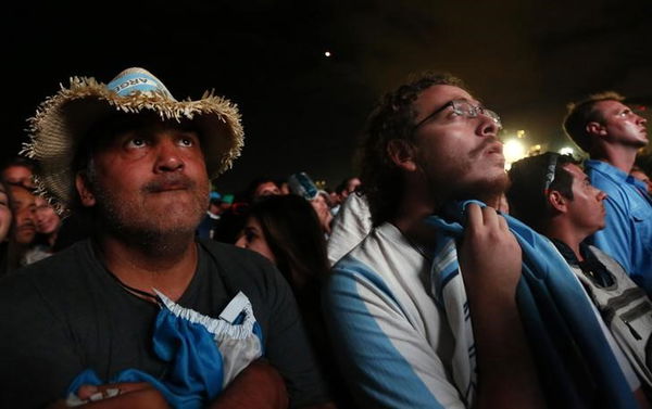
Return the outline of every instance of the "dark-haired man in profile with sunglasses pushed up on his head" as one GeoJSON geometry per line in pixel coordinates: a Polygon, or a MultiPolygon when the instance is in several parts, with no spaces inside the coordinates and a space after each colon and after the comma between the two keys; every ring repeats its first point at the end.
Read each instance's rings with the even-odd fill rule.
{"type": "Polygon", "coordinates": [[[555,152],[521,159],[509,175],[512,215],[552,241],[639,379],[652,387],[652,303],[616,260],[585,242],[604,228],[604,192],[589,182],[573,157],[555,152]]]}

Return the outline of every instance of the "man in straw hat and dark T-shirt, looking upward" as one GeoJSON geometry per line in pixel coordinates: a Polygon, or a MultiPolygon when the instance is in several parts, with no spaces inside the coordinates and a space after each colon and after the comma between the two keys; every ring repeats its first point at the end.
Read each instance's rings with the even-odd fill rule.
{"type": "Polygon", "coordinates": [[[280,274],[195,240],[209,178],[241,145],[235,105],[176,101],[142,68],[41,104],[25,150],[38,187],[95,234],[0,283],[0,407],[327,402],[280,274]]]}

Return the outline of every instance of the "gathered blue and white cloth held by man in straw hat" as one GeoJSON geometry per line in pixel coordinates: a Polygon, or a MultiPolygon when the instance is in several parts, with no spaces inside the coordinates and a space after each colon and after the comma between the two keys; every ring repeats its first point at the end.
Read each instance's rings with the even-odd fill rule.
{"type": "Polygon", "coordinates": [[[262,332],[251,303],[239,292],[217,319],[184,308],[155,292],[161,304],[153,333],[153,350],[168,370],[163,379],[136,369],[101,380],[91,369],[71,386],[68,400],[82,385],[148,382],[179,409],[199,409],[214,400],[249,363],[263,355],[262,332]]]}

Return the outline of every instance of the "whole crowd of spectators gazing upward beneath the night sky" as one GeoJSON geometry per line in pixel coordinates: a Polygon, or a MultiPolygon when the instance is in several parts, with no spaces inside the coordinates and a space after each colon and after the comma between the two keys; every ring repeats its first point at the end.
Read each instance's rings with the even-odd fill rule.
{"type": "Polygon", "coordinates": [[[74,78],[0,168],[0,407],[652,407],[626,102],[560,118],[588,159],[505,171],[500,116],[426,73],[371,113],[359,177],[227,193],[235,104],[74,78]]]}

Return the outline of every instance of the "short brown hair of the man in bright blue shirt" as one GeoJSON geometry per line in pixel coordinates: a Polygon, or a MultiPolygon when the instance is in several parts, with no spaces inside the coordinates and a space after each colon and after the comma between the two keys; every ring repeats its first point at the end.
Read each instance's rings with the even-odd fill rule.
{"type": "Polygon", "coordinates": [[[564,118],[563,128],[568,138],[585,152],[591,149],[591,136],[587,132],[587,124],[593,120],[602,122],[604,117],[595,110],[601,101],[623,101],[625,97],[614,91],[605,91],[589,95],[589,98],[567,105],[568,113],[564,118]]]}

